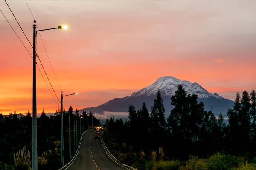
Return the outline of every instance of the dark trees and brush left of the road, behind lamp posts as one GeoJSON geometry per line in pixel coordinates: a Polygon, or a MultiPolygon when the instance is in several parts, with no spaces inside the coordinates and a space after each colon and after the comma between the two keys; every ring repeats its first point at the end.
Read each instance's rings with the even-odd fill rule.
{"type": "MultiPolygon", "coordinates": [[[[64,126],[64,164],[67,164],[69,160],[69,114],[70,114],[70,131],[74,131],[74,125],[78,125],[78,117],[84,117],[84,130],[87,130],[88,125],[92,124],[99,126],[99,120],[93,116],[93,113],[82,112],[76,109],[73,113],[73,108],[70,106],[68,111],[63,108],[63,126],[64,126]],[[75,124],[74,124],[75,119],[75,124]],[[88,124],[87,124],[88,123],[88,124]]],[[[83,132],[81,129],[80,135],[83,132]]],[[[37,135],[38,135],[38,170],[49,169],[56,170],[61,167],[61,109],[56,109],[54,116],[47,116],[44,109],[41,116],[37,118],[37,135]]],[[[76,137],[75,137],[76,138],[76,137]]],[[[79,138],[78,138],[79,139],[79,138]]],[[[72,156],[76,152],[77,145],[74,150],[74,135],[71,132],[71,153],[72,156]]],[[[16,155],[23,149],[23,153],[29,151],[32,153],[32,116],[28,111],[26,116],[17,118],[16,111],[9,113],[8,116],[3,116],[0,113],[0,170],[8,169],[9,166],[13,166],[14,169],[24,167],[28,170],[31,167],[32,154],[30,154],[28,163],[22,163],[20,165],[15,162],[14,154],[16,155]],[[23,149],[25,146],[26,150],[23,149]],[[6,165],[5,165],[6,164],[6,165]],[[15,165],[16,164],[16,165],[15,165]],[[6,167],[7,166],[7,167],[6,167]]],[[[28,154],[29,154],[28,153],[28,154]]],[[[26,155],[27,156],[27,155],[26,155]]],[[[17,161],[18,159],[16,159],[17,161]]]]}

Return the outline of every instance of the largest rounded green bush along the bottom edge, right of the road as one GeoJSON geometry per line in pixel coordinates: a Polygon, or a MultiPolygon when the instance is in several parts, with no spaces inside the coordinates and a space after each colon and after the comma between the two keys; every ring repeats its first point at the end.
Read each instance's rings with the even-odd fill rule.
{"type": "Polygon", "coordinates": [[[236,156],[216,153],[208,161],[209,170],[232,170],[239,167],[241,159],[236,156]]]}

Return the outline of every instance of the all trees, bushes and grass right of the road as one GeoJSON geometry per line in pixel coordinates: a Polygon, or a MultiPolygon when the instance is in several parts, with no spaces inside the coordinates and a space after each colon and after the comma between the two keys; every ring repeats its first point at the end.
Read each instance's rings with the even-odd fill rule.
{"type": "Polygon", "coordinates": [[[167,122],[160,91],[150,114],[145,102],[137,111],[130,105],[128,121],[106,121],[108,150],[139,170],[256,170],[255,91],[237,93],[228,125],[197,98],[179,85],[167,122]]]}

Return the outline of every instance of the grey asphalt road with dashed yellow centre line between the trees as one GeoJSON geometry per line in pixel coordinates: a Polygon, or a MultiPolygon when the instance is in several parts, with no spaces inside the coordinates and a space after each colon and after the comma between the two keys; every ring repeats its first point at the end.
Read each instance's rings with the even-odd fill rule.
{"type": "Polygon", "coordinates": [[[94,134],[95,130],[84,133],[76,160],[67,170],[127,170],[108,156],[101,140],[94,139],[94,134]]]}

